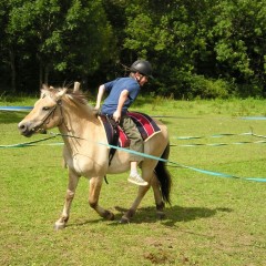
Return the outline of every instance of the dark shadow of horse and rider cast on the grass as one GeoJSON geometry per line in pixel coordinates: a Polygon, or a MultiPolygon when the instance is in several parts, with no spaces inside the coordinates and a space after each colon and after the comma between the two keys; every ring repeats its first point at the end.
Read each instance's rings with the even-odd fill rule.
{"type": "MultiPolygon", "coordinates": [[[[123,214],[127,211],[125,208],[116,206],[115,209],[120,213],[115,214],[114,221],[109,222],[109,225],[117,225],[117,222],[121,219],[123,214]]],[[[165,226],[176,226],[178,222],[190,222],[200,218],[208,218],[215,216],[218,212],[231,213],[231,208],[206,208],[206,207],[182,207],[182,206],[172,206],[165,209],[165,218],[161,221],[165,226]]],[[[84,223],[70,224],[68,226],[81,226],[85,224],[94,224],[103,221],[103,218],[85,221],[84,223]]],[[[135,215],[131,219],[131,224],[142,224],[142,223],[157,223],[156,209],[155,207],[143,207],[137,208],[135,215]]]]}

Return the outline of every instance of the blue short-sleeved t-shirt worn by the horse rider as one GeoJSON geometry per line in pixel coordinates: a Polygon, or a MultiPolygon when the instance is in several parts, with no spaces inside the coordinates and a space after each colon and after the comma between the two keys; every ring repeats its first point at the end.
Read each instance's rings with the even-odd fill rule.
{"type": "Polygon", "coordinates": [[[125,114],[141,90],[139,83],[132,78],[120,78],[105,83],[104,86],[109,95],[103,102],[101,113],[109,115],[113,115],[113,113],[116,111],[122,91],[129,91],[127,100],[122,109],[122,114],[125,114]]]}

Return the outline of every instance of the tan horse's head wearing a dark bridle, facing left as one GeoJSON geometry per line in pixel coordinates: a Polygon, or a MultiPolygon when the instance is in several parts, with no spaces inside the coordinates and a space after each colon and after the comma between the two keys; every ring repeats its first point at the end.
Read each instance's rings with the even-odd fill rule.
{"type": "Polygon", "coordinates": [[[18,127],[22,135],[31,136],[34,133],[43,133],[62,123],[62,98],[68,89],[59,89],[43,85],[41,96],[35,102],[32,111],[19,123],[18,127]]]}

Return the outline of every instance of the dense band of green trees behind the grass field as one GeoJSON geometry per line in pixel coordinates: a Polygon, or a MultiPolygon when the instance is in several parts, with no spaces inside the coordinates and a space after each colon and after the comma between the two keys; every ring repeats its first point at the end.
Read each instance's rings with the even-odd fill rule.
{"type": "Polygon", "coordinates": [[[176,98],[266,93],[263,0],[7,0],[0,3],[0,85],[95,86],[139,58],[147,91],[176,98]]]}

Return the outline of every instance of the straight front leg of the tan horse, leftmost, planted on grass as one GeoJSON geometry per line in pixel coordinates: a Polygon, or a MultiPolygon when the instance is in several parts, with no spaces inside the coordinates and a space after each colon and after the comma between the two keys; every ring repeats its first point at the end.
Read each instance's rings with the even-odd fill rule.
{"type": "Polygon", "coordinates": [[[63,229],[69,221],[70,208],[71,208],[72,201],[74,198],[79,180],[80,180],[80,176],[74,171],[69,168],[69,186],[66,190],[64,207],[63,207],[61,217],[54,224],[55,229],[63,229]]]}

